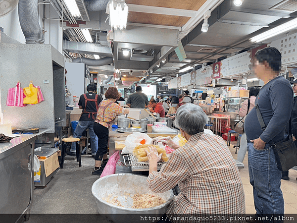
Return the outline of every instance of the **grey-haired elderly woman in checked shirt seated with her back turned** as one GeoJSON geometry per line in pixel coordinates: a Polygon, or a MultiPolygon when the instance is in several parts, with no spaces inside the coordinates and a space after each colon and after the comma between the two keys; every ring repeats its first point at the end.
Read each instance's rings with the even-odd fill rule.
{"type": "Polygon", "coordinates": [[[245,214],[245,192],[237,165],[224,140],[205,134],[204,111],[194,104],[181,106],[175,125],[188,142],[183,146],[164,138],[172,149],[167,164],[157,172],[160,157],[149,147],[148,187],[162,193],[179,185],[181,193],[174,196],[166,214],[245,214]]]}

